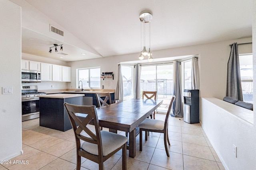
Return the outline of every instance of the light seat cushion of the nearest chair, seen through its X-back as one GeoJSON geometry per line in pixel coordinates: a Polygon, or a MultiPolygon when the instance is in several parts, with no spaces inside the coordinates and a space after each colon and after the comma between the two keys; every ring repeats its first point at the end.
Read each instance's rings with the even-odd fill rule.
{"type": "MultiPolygon", "coordinates": [[[[102,140],[103,156],[107,156],[118,149],[128,141],[128,138],[108,131],[100,131],[102,140]]],[[[98,155],[98,145],[85,142],[82,143],[82,149],[91,154],[98,155]]]]}

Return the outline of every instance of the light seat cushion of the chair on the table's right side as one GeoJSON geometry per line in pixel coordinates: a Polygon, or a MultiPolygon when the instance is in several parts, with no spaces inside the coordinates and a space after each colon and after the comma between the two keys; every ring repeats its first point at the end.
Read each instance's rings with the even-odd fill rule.
{"type": "Polygon", "coordinates": [[[164,129],[164,121],[156,120],[156,119],[145,119],[138,125],[139,128],[143,129],[152,129],[152,130],[163,130],[164,129]]]}

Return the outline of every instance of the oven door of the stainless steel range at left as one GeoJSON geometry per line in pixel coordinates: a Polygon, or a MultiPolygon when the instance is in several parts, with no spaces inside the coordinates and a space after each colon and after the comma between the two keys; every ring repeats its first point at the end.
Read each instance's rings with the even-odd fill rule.
{"type": "Polygon", "coordinates": [[[39,117],[39,98],[22,100],[22,121],[39,117]]]}

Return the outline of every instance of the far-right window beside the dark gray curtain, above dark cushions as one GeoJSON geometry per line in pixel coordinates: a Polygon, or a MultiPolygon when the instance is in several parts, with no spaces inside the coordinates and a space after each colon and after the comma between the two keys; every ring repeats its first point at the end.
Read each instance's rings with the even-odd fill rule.
{"type": "Polygon", "coordinates": [[[244,102],[253,103],[252,54],[239,55],[239,63],[244,102]]]}

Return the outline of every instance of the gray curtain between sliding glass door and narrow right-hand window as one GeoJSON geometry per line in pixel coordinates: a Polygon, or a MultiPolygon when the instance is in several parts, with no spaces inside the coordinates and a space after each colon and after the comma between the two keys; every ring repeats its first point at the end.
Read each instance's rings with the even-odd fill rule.
{"type": "Polygon", "coordinates": [[[180,63],[178,61],[173,62],[174,65],[174,96],[176,99],[173,104],[173,115],[174,117],[183,117],[182,107],[182,95],[180,86],[180,63]]]}

